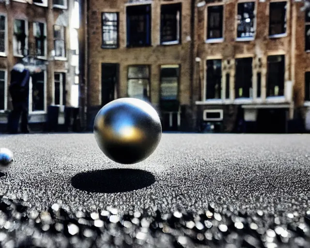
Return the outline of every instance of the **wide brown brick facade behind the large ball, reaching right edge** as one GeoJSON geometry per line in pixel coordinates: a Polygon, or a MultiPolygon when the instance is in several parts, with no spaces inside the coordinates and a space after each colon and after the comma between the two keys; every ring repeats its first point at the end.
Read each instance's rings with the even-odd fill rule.
{"type": "Polygon", "coordinates": [[[150,101],[164,130],[307,126],[310,15],[303,4],[88,0],[89,119],[129,96],[150,101]]]}

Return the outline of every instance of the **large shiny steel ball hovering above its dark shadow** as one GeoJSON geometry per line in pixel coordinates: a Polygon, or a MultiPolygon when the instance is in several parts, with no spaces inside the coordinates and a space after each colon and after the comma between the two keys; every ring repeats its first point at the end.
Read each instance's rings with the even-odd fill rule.
{"type": "Polygon", "coordinates": [[[99,110],[93,132],[106,156],[121,164],[134,164],[155,151],[162,130],[150,104],[136,98],[119,98],[99,110]]]}

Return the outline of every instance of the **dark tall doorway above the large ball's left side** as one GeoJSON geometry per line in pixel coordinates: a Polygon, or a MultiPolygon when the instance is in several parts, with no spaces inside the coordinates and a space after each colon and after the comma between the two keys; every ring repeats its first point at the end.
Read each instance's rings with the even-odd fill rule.
{"type": "Polygon", "coordinates": [[[118,63],[101,64],[101,106],[117,99],[118,97],[118,63]]]}

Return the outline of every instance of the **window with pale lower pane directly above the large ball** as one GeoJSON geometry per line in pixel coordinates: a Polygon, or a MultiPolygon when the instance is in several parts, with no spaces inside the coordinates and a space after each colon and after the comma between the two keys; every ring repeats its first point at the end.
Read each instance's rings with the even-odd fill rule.
{"type": "Polygon", "coordinates": [[[148,65],[128,67],[128,97],[150,100],[150,68],[148,65]]]}

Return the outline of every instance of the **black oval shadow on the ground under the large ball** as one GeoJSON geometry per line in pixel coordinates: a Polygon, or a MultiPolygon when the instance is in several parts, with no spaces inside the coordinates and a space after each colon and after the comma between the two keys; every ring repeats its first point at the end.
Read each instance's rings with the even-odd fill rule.
{"type": "Polygon", "coordinates": [[[151,172],[135,169],[85,171],[71,179],[73,187],[96,193],[128,192],[154,183],[155,177],[151,172]]]}

